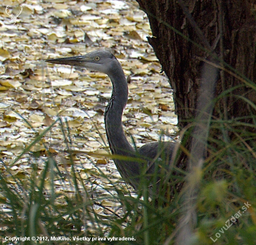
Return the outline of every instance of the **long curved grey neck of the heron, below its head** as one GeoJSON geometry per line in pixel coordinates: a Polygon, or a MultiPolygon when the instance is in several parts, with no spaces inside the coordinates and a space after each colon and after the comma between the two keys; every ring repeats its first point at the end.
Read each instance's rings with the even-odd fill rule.
{"type": "Polygon", "coordinates": [[[122,113],[128,101],[127,80],[121,65],[115,67],[115,71],[108,76],[113,86],[104,118],[109,148],[112,154],[129,156],[135,152],[135,149],[128,142],[121,122],[122,113]]]}

